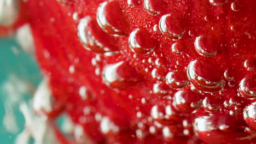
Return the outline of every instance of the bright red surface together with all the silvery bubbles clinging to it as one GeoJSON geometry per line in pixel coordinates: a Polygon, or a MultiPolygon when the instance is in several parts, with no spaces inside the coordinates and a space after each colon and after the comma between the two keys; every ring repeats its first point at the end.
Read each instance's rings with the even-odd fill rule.
{"type": "Polygon", "coordinates": [[[93,143],[256,143],[255,1],[19,3],[49,119],[93,143]]]}

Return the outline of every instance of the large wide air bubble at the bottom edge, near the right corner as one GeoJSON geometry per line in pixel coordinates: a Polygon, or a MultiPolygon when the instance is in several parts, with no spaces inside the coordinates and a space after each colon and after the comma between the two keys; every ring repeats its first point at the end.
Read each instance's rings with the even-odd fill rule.
{"type": "MultiPolygon", "coordinates": [[[[226,112],[218,112],[214,115],[210,114],[195,118],[193,128],[196,136],[203,142],[221,141],[222,143],[236,143],[240,137],[248,135],[248,133],[242,130],[240,126],[241,121],[236,119],[229,116],[226,112]]],[[[246,143],[246,141],[241,142],[246,143]]]]}

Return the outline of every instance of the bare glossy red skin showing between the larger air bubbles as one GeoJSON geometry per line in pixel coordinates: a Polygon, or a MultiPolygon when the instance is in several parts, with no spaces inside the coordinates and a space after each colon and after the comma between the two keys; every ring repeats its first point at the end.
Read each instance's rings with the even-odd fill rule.
{"type": "MultiPolygon", "coordinates": [[[[101,56],[102,61],[98,64],[98,67],[102,70],[104,65],[125,61],[141,77],[141,80],[135,85],[125,89],[119,89],[118,91],[117,89],[106,86],[102,82],[102,77],[95,75],[95,67],[91,64],[91,59],[95,57],[95,53],[84,49],[77,36],[78,22],[72,19],[74,12],[77,12],[80,18],[84,16],[96,17],[97,8],[102,2],[104,1],[63,0],[57,2],[55,0],[28,0],[24,5],[22,4],[22,9],[25,9],[28,14],[26,16],[26,22],[32,28],[38,63],[43,74],[50,77],[50,86],[55,103],[65,105],[66,109],[63,112],[67,112],[74,123],[82,124],[86,135],[92,141],[96,143],[184,143],[184,139],[179,140],[178,136],[174,137],[175,140],[167,141],[162,136],[161,129],[157,130],[158,132],[154,135],[149,134],[148,130],[145,130],[148,135],[143,139],[132,137],[132,135],[136,136],[135,131],[138,129],[137,123],[142,121],[143,118],[150,116],[150,110],[153,105],[166,106],[172,104],[171,100],[163,97],[164,95],[159,96],[150,92],[156,81],[152,79],[150,73],[145,71],[146,68],[149,71],[152,70],[149,67],[151,64],[147,62],[142,63],[142,59],[147,60],[149,57],[153,59],[159,58],[162,65],[164,65],[161,69],[166,71],[170,71],[170,69],[187,69],[188,64],[194,60],[211,61],[218,67],[214,75],[208,72],[206,74],[204,71],[199,72],[200,76],[206,77],[209,80],[215,80],[216,75],[223,77],[224,71],[228,69],[229,75],[234,76],[235,86],[228,87],[225,84],[224,89],[226,91],[223,92],[223,95],[214,93],[214,95],[209,96],[210,98],[216,97],[216,102],[220,104],[219,112],[222,114],[213,113],[216,118],[220,115],[228,115],[230,109],[223,106],[225,100],[235,99],[241,104],[240,107],[242,110],[245,106],[255,101],[255,99],[249,100],[237,97],[236,90],[244,77],[255,75],[255,69],[246,70],[243,66],[243,62],[248,57],[254,59],[256,57],[256,22],[254,12],[256,3],[254,0],[240,1],[242,7],[238,12],[231,10],[231,1],[219,6],[212,5],[208,1],[164,1],[165,4],[160,8],[159,15],[149,14],[143,7],[143,3],[137,3],[135,7],[130,7],[127,5],[127,1],[118,1],[120,8],[124,10],[123,14],[129,26],[125,29],[125,37],[114,38],[117,41],[115,45],[119,48],[120,53],[111,57],[101,56]],[[71,15],[68,15],[68,13],[71,15]],[[180,26],[185,29],[181,40],[178,40],[184,44],[184,57],[174,55],[170,49],[172,44],[177,41],[166,38],[159,31],[153,31],[153,26],[159,23],[160,17],[164,14],[172,14],[174,17],[177,17],[177,21],[181,23],[180,26]],[[207,16],[207,21],[205,20],[205,16],[207,16]],[[217,19],[217,17],[219,18],[217,19]],[[248,18],[245,19],[245,17],[248,18]],[[54,18],[54,21],[51,21],[51,18],[54,18]],[[231,31],[231,26],[234,26],[234,31],[231,31]],[[152,35],[155,41],[158,41],[153,51],[155,52],[155,56],[151,52],[148,55],[137,55],[137,58],[133,58],[134,53],[129,48],[127,39],[135,28],[142,27],[152,35]],[[191,31],[191,36],[188,34],[189,31],[191,31]],[[251,33],[253,38],[248,38],[248,35],[244,33],[246,31],[251,33]],[[216,56],[203,57],[196,52],[194,41],[200,35],[212,35],[216,38],[216,43],[214,44],[219,45],[216,56]],[[236,47],[233,46],[233,40],[235,42],[237,41],[236,47]],[[45,57],[45,52],[49,52],[49,58],[45,57]],[[79,59],[79,62],[75,63],[75,59],[79,59]],[[175,68],[176,61],[179,61],[180,64],[175,68]],[[70,65],[74,65],[74,74],[68,71],[70,65]],[[88,100],[82,100],[79,97],[78,92],[81,86],[86,86],[91,93],[91,97],[88,100]],[[132,99],[128,97],[130,94],[132,95],[132,99]],[[142,104],[141,98],[145,98],[147,103],[142,104]],[[84,117],[84,106],[94,107],[94,111],[90,115],[85,116],[86,119],[89,119],[88,122],[81,123],[79,118],[84,117]],[[142,118],[136,117],[138,112],[135,109],[136,106],[142,112],[142,118]],[[101,113],[102,116],[109,117],[112,122],[119,126],[120,132],[118,134],[101,133],[99,129],[100,123],[94,119],[95,113],[101,113]]],[[[156,68],[154,64],[153,68],[156,68]]],[[[172,92],[168,94],[173,97],[176,91],[176,89],[172,89],[172,92]]],[[[188,119],[190,123],[193,123],[196,117],[208,115],[207,112],[201,111],[203,111],[202,108],[196,113],[183,116],[183,119],[188,119]]],[[[232,118],[235,123],[240,123],[241,127],[248,127],[243,120],[242,111],[232,118]]],[[[160,120],[156,119],[155,121],[160,120]]],[[[146,125],[149,127],[153,124],[147,122],[146,125]]],[[[171,123],[170,125],[176,125],[176,123],[171,123]]],[[[235,128],[238,126],[232,127],[235,128]]],[[[202,141],[212,143],[211,139],[205,137],[206,133],[210,133],[209,131],[200,132],[197,136],[194,136],[195,134],[192,130],[190,132],[192,134],[187,136],[187,139],[189,139],[188,143],[202,143],[202,141]]],[[[215,132],[213,131],[211,133],[215,132]]],[[[243,131],[241,133],[242,135],[249,135],[243,131]]],[[[229,134],[225,131],[214,134],[217,137],[216,139],[218,139],[218,141],[214,142],[238,142],[236,134],[229,134]]],[[[252,139],[242,140],[242,142],[256,143],[256,139],[254,137],[252,139]]]]}

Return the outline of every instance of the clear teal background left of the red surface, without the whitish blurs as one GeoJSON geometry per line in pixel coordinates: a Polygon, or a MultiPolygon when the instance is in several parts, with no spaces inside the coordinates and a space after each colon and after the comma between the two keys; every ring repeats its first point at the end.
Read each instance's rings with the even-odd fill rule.
{"type": "MultiPolygon", "coordinates": [[[[0,143],[11,144],[14,143],[15,136],[18,134],[10,134],[3,127],[3,116],[4,116],[4,103],[8,98],[8,94],[4,92],[2,84],[7,81],[8,76],[16,75],[22,80],[26,80],[34,87],[38,85],[42,79],[38,65],[36,64],[34,56],[31,56],[24,52],[15,38],[3,39],[0,38],[0,143]],[[18,54],[16,54],[12,47],[16,47],[18,54]]],[[[27,100],[30,98],[30,94],[25,94],[24,98],[27,100]]],[[[16,120],[18,122],[19,131],[24,127],[24,118],[21,115],[18,106],[14,107],[16,120]]]]}

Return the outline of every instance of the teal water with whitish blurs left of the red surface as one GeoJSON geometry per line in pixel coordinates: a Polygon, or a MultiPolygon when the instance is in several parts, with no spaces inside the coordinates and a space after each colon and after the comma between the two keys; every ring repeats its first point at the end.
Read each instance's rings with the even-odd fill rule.
{"type": "Polygon", "coordinates": [[[0,39],[0,45],[0,137],[2,143],[14,143],[25,121],[19,105],[31,98],[42,77],[34,57],[15,38],[0,39]]]}

